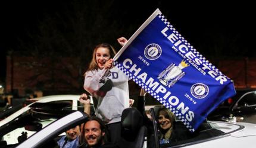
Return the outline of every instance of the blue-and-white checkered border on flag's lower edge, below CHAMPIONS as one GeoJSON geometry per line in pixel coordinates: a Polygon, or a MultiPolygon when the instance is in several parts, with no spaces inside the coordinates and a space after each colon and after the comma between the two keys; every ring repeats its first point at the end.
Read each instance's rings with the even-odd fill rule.
{"type": "Polygon", "coordinates": [[[120,63],[115,61],[114,65],[117,66],[118,69],[120,69],[124,74],[129,76],[130,79],[133,79],[133,81],[135,83],[137,83],[139,86],[141,86],[146,92],[151,94],[151,96],[153,96],[155,99],[157,99],[157,101],[159,101],[166,108],[168,108],[171,112],[173,112],[173,114],[176,115],[185,124],[185,126],[189,129],[189,131],[195,131],[193,129],[193,127],[190,125],[189,121],[186,120],[184,115],[182,115],[178,110],[176,110],[176,108],[172,108],[171,105],[168,102],[166,102],[166,100],[164,100],[159,95],[157,95],[157,93],[155,93],[151,88],[148,88],[148,86],[145,85],[145,83],[139,81],[138,78],[136,78],[132,73],[129,72],[129,70],[127,70],[125,67],[123,67],[120,63]]]}

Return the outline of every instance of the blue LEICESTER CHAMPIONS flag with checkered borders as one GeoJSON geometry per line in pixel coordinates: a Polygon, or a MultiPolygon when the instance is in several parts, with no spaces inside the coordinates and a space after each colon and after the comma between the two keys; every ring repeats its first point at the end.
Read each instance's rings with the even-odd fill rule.
{"type": "Polygon", "coordinates": [[[190,131],[236,93],[233,82],[194,49],[159,9],[117,53],[114,65],[190,131]]]}

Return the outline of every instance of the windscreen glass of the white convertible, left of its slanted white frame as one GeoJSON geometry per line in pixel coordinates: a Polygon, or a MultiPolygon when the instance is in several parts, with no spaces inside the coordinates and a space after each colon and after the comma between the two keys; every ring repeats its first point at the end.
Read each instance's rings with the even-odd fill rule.
{"type": "MultiPolygon", "coordinates": [[[[6,142],[7,145],[21,143],[42,128],[48,126],[48,124],[71,112],[73,111],[30,109],[28,112],[0,127],[1,143],[6,142]]],[[[0,147],[2,147],[1,143],[0,147]]]]}

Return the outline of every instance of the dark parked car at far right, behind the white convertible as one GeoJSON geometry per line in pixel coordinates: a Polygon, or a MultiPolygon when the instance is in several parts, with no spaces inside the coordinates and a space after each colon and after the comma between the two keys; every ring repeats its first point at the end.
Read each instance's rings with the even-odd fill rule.
{"type": "Polygon", "coordinates": [[[233,99],[231,105],[220,105],[210,115],[209,120],[246,122],[256,124],[256,91],[249,91],[233,99]]]}

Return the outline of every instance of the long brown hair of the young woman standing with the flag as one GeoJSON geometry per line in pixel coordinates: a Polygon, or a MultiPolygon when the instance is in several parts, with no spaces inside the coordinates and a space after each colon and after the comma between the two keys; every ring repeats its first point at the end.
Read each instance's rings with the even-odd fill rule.
{"type": "Polygon", "coordinates": [[[89,65],[89,68],[86,70],[86,72],[90,71],[90,70],[95,70],[95,69],[98,69],[99,66],[96,62],[96,51],[99,47],[104,47],[104,48],[107,48],[109,51],[110,51],[110,58],[113,58],[115,56],[115,54],[117,52],[115,52],[115,49],[110,45],[110,44],[107,44],[107,43],[101,43],[101,44],[98,44],[95,49],[93,50],[93,53],[92,53],[92,60],[90,61],[90,65],[89,65]]]}

